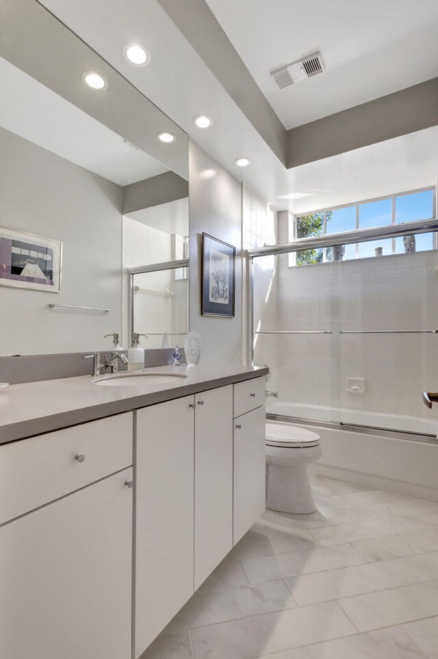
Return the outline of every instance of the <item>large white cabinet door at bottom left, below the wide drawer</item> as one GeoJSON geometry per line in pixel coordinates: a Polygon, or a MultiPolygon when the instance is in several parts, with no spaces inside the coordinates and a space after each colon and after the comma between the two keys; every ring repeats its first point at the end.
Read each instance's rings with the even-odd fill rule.
{"type": "Polygon", "coordinates": [[[0,658],[129,659],[126,469],[0,529],[0,658]]]}

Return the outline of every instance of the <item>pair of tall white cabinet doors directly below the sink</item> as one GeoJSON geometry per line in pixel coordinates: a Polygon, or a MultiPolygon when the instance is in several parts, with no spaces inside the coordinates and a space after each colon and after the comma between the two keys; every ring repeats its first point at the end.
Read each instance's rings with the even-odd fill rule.
{"type": "Polygon", "coordinates": [[[138,658],[233,547],[233,386],[138,410],[138,658]]]}

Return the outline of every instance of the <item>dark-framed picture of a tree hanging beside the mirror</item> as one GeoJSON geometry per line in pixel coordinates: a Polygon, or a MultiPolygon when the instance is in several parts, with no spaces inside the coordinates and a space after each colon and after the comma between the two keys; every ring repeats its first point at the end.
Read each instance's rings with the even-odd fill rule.
{"type": "Polygon", "coordinates": [[[201,313],[234,316],[235,247],[203,234],[201,313]]]}

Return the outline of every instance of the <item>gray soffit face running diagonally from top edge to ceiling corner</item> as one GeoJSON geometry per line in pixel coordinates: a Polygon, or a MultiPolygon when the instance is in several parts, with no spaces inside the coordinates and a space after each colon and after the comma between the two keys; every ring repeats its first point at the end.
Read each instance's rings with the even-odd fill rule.
{"type": "Polygon", "coordinates": [[[286,165],[286,129],[205,0],[157,0],[248,121],[286,165]]]}

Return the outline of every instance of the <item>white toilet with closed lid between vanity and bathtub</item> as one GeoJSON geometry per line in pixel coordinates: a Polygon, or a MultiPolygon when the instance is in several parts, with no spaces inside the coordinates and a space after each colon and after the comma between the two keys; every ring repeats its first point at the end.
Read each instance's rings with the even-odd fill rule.
{"type": "Polygon", "coordinates": [[[315,512],[307,464],[321,457],[320,436],[288,423],[266,423],[266,506],[271,510],[315,512]]]}

